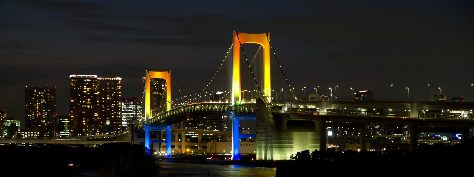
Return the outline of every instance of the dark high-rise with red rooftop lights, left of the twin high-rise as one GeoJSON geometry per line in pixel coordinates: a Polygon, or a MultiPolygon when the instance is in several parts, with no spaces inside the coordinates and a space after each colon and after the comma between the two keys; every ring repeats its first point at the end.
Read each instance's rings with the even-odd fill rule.
{"type": "Polygon", "coordinates": [[[25,127],[38,136],[55,136],[56,86],[25,87],[25,127]]]}

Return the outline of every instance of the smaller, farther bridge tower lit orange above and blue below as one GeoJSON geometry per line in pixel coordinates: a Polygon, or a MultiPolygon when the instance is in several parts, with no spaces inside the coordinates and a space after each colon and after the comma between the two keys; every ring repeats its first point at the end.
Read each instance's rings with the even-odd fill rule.
{"type": "MultiPolygon", "coordinates": [[[[153,78],[162,78],[166,80],[166,110],[171,110],[171,71],[149,71],[146,69],[145,73],[145,121],[143,128],[145,130],[145,147],[147,151],[150,149],[150,130],[166,130],[166,154],[171,157],[171,126],[154,127],[149,125],[151,115],[151,101],[150,101],[150,81],[153,78]]],[[[149,152],[148,152],[149,153],[149,152]]]]}

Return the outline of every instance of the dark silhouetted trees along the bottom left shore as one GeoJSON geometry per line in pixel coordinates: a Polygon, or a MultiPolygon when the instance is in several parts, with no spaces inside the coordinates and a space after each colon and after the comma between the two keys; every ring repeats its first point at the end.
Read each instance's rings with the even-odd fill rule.
{"type": "Polygon", "coordinates": [[[3,172],[20,176],[79,176],[78,169],[100,169],[101,177],[158,176],[160,164],[146,155],[145,147],[131,143],[106,143],[99,147],[67,145],[1,145],[3,172]],[[73,166],[69,166],[73,164],[73,166]]]}

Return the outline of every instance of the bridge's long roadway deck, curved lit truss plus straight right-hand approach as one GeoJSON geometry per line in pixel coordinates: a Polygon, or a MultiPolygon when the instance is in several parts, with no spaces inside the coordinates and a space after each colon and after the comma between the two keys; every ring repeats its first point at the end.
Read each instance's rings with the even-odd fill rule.
{"type": "MultiPolygon", "coordinates": [[[[397,115],[403,118],[444,118],[446,116],[436,116],[433,113],[426,113],[428,110],[460,110],[463,111],[465,120],[473,120],[472,110],[474,110],[474,102],[451,102],[451,101],[352,101],[352,100],[337,100],[337,101],[285,101],[272,102],[267,104],[269,110],[276,112],[287,112],[295,109],[311,110],[319,114],[329,114],[326,109],[336,109],[341,111],[349,110],[363,110],[364,114],[357,116],[366,117],[387,117],[388,113],[401,114],[404,111],[405,116],[397,115]],[[384,110],[384,114],[370,114],[371,110],[384,110]],[[390,110],[390,111],[389,111],[390,110]],[[417,111],[414,111],[417,110],[417,111]]],[[[157,126],[172,126],[185,120],[189,120],[198,116],[212,114],[212,113],[228,113],[233,109],[235,114],[255,114],[255,102],[246,102],[240,105],[235,105],[233,108],[229,106],[228,102],[203,102],[184,105],[174,108],[172,110],[163,112],[153,118],[150,118],[149,125],[157,126]]],[[[334,113],[335,114],[335,113],[334,113]]],[[[347,115],[350,116],[350,115],[347,115]]],[[[355,115],[354,115],[355,116],[355,115]]],[[[450,119],[450,118],[446,118],[450,119]]],[[[143,123],[140,122],[137,128],[143,128],[143,123]]]]}

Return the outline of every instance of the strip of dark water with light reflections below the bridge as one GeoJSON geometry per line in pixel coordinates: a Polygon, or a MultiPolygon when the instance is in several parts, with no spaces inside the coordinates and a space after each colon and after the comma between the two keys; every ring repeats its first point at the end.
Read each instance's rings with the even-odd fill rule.
{"type": "Polygon", "coordinates": [[[160,177],[275,177],[276,168],[219,165],[224,160],[161,160],[160,177]]]}

